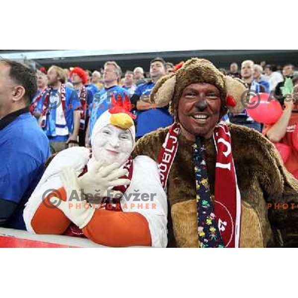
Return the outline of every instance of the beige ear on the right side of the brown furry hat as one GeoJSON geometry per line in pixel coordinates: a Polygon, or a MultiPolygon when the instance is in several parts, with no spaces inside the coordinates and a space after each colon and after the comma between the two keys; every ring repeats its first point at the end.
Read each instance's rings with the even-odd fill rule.
{"type": "Polygon", "coordinates": [[[241,79],[233,78],[231,76],[224,77],[226,86],[227,107],[231,113],[238,114],[245,109],[242,101],[244,100],[245,90],[247,86],[241,79]],[[241,96],[243,99],[241,101],[241,96]],[[234,101],[234,103],[233,103],[234,101]]]}

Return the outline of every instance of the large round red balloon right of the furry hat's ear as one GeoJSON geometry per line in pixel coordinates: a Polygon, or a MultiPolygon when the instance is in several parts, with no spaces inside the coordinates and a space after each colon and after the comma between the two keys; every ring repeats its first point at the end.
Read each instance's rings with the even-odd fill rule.
{"type": "Polygon", "coordinates": [[[264,124],[274,124],[281,117],[283,109],[279,101],[269,98],[268,93],[259,93],[249,100],[247,113],[255,121],[264,124]],[[269,100],[268,100],[269,99],[269,100]]]}

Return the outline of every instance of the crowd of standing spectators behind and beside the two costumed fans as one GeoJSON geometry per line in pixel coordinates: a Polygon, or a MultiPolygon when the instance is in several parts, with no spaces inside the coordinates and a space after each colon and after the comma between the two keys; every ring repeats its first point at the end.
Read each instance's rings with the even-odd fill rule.
{"type": "MultiPolygon", "coordinates": [[[[175,72],[175,66],[157,57],[148,68],[146,77],[142,67],[123,74],[115,61],[107,61],[103,69],[95,67],[93,72],[55,65],[47,71],[33,71],[17,62],[0,61],[0,225],[24,228],[20,214],[48,157],[73,146],[90,147],[95,122],[113,101],[120,99],[122,105],[129,104],[137,116],[136,139],[173,123],[168,106],[154,105],[149,94],[162,76],[175,72]]],[[[298,91],[292,64],[278,71],[274,65],[245,60],[240,66],[233,62],[229,70],[220,70],[243,80],[255,92],[274,91],[281,106],[285,103],[282,90],[288,78],[293,82],[293,92],[298,91]]],[[[291,153],[285,165],[295,174],[296,100],[290,105],[291,109],[284,109],[275,124],[259,123],[246,110],[229,113],[224,121],[255,129],[271,142],[289,146],[291,153]]]]}

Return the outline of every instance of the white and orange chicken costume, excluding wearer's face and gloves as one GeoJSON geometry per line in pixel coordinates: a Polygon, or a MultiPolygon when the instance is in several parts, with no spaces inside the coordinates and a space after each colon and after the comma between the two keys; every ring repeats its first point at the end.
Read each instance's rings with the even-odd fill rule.
{"type": "MultiPolygon", "coordinates": [[[[76,177],[89,171],[96,162],[96,132],[101,132],[107,125],[115,126],[118,130],[129,130],[133,137],[132,149],[134,148],[135,128],[133,124],[128,124],[130,120],[127,121],[127,116],[124,115],[126,120],[123,121],[121,114],[124,113],[113,115],[106,111],[97,120],[91,138],[92,157],[89,149],[74,147],[61,151],[53,158],[26,204],[23,217],[28,231],[39,234],[69,234],[67,231],[74,226],[73,223],[77,223],[76,219],[71,220],[67,212],[55,207],[50,196],[44,194],[49,194],[54,189],[62,201],[68,200],[70,194],[67,194],[61,180],[61,170],[70,167],[76,177]]],[[[83,224],[78,224],[81,229],[76,230],[92,241],[107,246],[166,247],[167,199],[160,182],[158,166],[153,159],[142,155],[132,160],[130,166],[131,182],[125,192],[122,189],[124,195],[120,200],[120,208],[107,208],[106,204],[100,208],[90,208],[90,212],[84,213],[83,221],[78,219],[83,224]]],[[[75,206],[77,202],[72,203],[75,206]]]]}

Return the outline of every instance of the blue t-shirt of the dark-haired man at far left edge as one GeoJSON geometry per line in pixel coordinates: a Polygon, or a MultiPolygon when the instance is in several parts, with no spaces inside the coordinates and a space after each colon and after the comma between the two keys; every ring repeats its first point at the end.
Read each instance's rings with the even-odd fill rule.
{"type": "Polygon", "coordinates": [[[0,130],[0,199],[17,204],[5,226],[25,229],[24,204],[50,155],[49,140],[30,113],[19,115],[0,130]]]}

